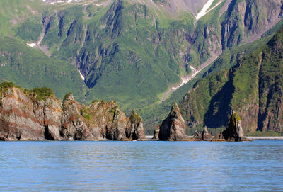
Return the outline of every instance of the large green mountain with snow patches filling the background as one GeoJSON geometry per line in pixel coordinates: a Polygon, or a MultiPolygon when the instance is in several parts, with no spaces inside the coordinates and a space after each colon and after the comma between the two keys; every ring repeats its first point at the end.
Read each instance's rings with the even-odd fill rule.
{"type": "Polygon", "coordinates": [[[72,91],[83,103],[115,99],[152,123],[180,82],[231,67],[250,52],[237,47],[258,42],[281,16],[278,0],[1,1],[0,80],[49,86],[59,98],[72,91]],[[231,63],[206,68],[230,50],[231,63]]]}

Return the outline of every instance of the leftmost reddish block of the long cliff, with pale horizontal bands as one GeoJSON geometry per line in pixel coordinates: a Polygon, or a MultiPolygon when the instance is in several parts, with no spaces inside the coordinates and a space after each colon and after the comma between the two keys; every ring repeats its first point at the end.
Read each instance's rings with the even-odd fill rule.
{"type": "Polygon", "coordinates": [[[1,93],[0,140],[44,140],[45,128],[33,113],[33,101],[17,88],[1,93]]]}

